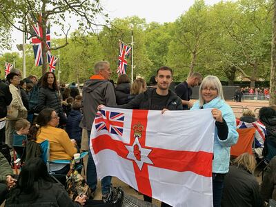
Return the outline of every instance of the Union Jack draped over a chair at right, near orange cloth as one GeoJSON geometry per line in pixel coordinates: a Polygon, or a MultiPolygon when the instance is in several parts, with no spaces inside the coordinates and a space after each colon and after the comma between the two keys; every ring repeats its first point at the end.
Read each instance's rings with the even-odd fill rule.
{"type": "Polygon", "coordinates": [[[266,126],[262,124],[261,121],[255,121],[252,123],[240,121],[236,119],[237,128],[255,128],[258,132],[259,136],[257,136],[257,132],[255,134],[255,146],[256,147],[264,147],[264,140],[266,139],[266,126]]]}

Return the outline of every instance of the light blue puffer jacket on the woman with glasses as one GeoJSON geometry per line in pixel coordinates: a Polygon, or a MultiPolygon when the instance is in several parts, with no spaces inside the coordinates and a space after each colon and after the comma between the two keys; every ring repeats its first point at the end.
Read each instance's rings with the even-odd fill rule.
{"type": "MultiPolygon", "coordinates": [[[[197,110],[199,108],[199,101],[197,101],[190,110],[197,110]]],[[[239,138],[236,130],[235,115],[230,106],[224,100],[221,100],[220,97],[213,99],[209,103],[205,103],[203,108],[219,109],[228,126],[228,137],[225,140],[219,139],[217,127],[215,126],[213,172],[223,174],[229,170],[230,146],[236,144],[239,138]]]]}

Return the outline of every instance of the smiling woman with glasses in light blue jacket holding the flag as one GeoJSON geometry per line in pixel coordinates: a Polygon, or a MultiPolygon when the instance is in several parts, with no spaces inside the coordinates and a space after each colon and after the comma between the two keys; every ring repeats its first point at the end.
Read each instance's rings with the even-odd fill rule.
{"type": "Polygon", "coordinates": [[[213,108],[215,119],[214,155],[213,155],[213,204],[221,206],[224,176],[229,170],[230,146],[237,143],[236,120],[233,110],[224,101],[219,79],[208,75],[199,86],[199,100],[190,110],[213,108]]]}

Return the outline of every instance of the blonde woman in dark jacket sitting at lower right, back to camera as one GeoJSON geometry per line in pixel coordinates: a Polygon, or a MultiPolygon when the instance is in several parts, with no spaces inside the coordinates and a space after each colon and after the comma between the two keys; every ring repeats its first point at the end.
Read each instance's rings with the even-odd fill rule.
{"type": "Polygon", "coordinates": [[[255,157],[248,152],[234,160],[224,179],[221,206],[262,207],[264,205],[259,194],[259,183],[253,175],[255,166],[255,157]]]}

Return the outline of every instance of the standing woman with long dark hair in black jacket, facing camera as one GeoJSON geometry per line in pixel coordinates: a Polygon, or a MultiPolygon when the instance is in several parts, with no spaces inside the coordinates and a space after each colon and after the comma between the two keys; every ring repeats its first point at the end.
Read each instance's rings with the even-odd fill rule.
{"type": "Polygon", "coordinates": [[[44,108],[55,109],[59,117],[61,117],[60,124],[66,124],[66,117],[63,115],[61,97],[54,72],[46,72],[42,77],[37,109],[41,111],[44,108]]]}

